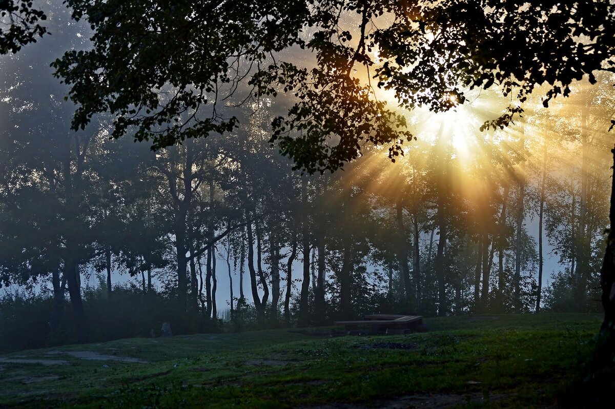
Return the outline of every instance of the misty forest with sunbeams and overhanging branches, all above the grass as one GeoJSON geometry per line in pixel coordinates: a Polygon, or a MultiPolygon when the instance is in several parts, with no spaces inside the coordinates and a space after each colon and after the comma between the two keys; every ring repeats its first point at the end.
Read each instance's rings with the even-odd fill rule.
{"type": "Polygon", "coordinates": [[[609,1],[4,3],[0,352],[612,318],[609,1]]]}

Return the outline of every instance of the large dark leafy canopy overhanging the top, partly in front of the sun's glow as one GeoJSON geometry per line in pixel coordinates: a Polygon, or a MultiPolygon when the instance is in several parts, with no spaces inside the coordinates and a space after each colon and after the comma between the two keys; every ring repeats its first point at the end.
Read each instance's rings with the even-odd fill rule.
{"type": "Polygon", "coordinates": [[[403,154],[413,136],[383,90],[405,108],[443,111],[467,90],[497,87],[510,106],[483,124],[496,128],[538,85],[550,86],[547,105],[615,68],[608,1],[66,3],[94,30],[92,49],[54,62],[77,105],[75,129],[110,112],[114,137],[157,149],[231,131],[229,106],[251,94],[285,94],[293,103],[271,141],[309,172],[342,167],[365,143],[403,154]]]}

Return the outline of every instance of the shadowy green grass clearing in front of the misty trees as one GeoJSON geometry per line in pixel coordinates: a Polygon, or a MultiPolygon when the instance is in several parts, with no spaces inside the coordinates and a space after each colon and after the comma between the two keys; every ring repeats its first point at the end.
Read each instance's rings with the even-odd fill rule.
{"type": "Polygon", "coordinates": [[[311,338],[270,330],[133,338],[0,355],[0,361],[66,361],[51,366],[0,362],[0,408],[386,407],[395,402],[549,407],[581,376],[600,316],[462,316],[424,322],[429,332],[399,336],[311,338]],[[378,344],[389,347],[374,347],[378,344]],[[391,349],[394,344],[403,349],[391,349]],[[66,354],[74,351],[148,363],[66,354]]]}

